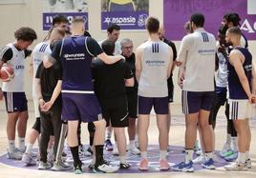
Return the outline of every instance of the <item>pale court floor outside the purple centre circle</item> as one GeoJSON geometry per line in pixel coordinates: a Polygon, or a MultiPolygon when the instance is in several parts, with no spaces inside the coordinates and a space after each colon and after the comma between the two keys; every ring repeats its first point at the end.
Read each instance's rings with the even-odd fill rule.
{"type": "MultiPolygon", "coordinates": [[[[29,102],[29,109],[30,109],[30,119],[28,122],[28,131],[32,127],[33,123],[33,107],[32,101],[29,102]]],[[[171,132],[170,132],[170,145],[171,146],[183,146],[184,143],[184,117],[181,114],[181,105],[172,105],[172,124],[171,124],[171,132]]],[[[4,102],[0,102],[0,155],[6,153],[6,146],[7,146],[7,136],[6,136],[6,121],[7,121],[7,114],[4,108],[4,102]]],[[[224,118],[224,109],[221,109],[218,115],[217,126],[215,130],[215,137],[216,137],[216,149],[220,150],[224,144],[224,139],[226,136],[225,127],[226,122],[224,118]]],[[[94,173],[87,173],[84,172],[80,175],[75,175],[72,172],[53,172],[51,170],[36,170],[36,169],[28,169],[28,168],[15,168],[12,166],[7,166],[5,164],[0,163],[0,178],[67,178],[67,177],[84,177],[84,178],[105,178],[105,177],[112,177],[112,178],[123,178],[123,177],[133,177],[138,178],[140,176],[147,176],[147,178],[199,178],[199,177],[218,177],[218,178],[227,178],[227,177],[239,177],[239,178],[252,178],[256,176],[256,119],[250,122],[251,124],[251,133],[252,133],[252,140],[251,140],[251,149],[250,155],[252,158],[252,168],[248,171],[244,172],[230,172],[224,170],[224,168],[216,168],[215,170],[204,170],[200,169],[193,173],[184,173],[184,172],[175,172],[175,171],[168,171],[168,172],[154,172],[154,173],[145,173],[139,172],[138,173],[114,173],[114,174],[94,174],[94,173]]],[[[86,124],[82,125],[82,142],[83,144],[88,143],[88,132],[86,129],[86,124]]],[[[156,125],[155,114],[151,114],[151,125],[149,129],[149,144],[150,145],[157,145],[158,144],[158,130],[156,125]]]]}

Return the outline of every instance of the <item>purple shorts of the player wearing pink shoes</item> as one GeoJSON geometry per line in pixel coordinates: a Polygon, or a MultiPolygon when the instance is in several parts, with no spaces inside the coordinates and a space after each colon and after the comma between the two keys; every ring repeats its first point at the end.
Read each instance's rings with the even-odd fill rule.
{"type": "Polygon", "coordinates": [[[168,96],[162,98],[139,96],[139,114],[150,114],[152,107],[154,107],[157,114],[168,114],[168,101],[168,96]]]}

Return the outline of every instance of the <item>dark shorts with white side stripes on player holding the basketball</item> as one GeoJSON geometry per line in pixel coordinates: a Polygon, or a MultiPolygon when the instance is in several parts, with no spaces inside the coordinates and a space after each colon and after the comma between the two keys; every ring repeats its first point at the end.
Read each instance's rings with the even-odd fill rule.
{"type": "Polygon", "coordinates": [[[8,113],[28,110],[25,92],[4,92],[8,113]]]}

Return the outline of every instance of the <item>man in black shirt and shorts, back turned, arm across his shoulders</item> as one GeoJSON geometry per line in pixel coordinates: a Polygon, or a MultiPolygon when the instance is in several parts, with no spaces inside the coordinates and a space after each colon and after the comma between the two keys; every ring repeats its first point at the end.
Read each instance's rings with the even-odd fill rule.
{"type": "MultiPolygon", "coordinates": [[[[115,42],[104,41],[102,49],[108,55],[113,55],[115,42]]],[[[125,86],[134,86],[133,73],[124,60],[107,65],[96,59],[92,64],[92,71],[96,96],[102,109],[102,115],[107,123],[111,123],[117,138],[120,168],[129,168],[125,156],[126,138],[124,128],[129,126],[125,86]]]]}

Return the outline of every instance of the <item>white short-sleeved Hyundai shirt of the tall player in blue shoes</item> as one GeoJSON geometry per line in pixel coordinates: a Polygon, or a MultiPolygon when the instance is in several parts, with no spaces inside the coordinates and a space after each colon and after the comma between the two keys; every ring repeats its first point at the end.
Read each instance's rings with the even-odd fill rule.
{"type": "Polygon", "coordinates": [[[177,57],[185,65],[183,90],[214,91],[215,53],[215,37],[203,28],[183,37],[177,57]]]}

